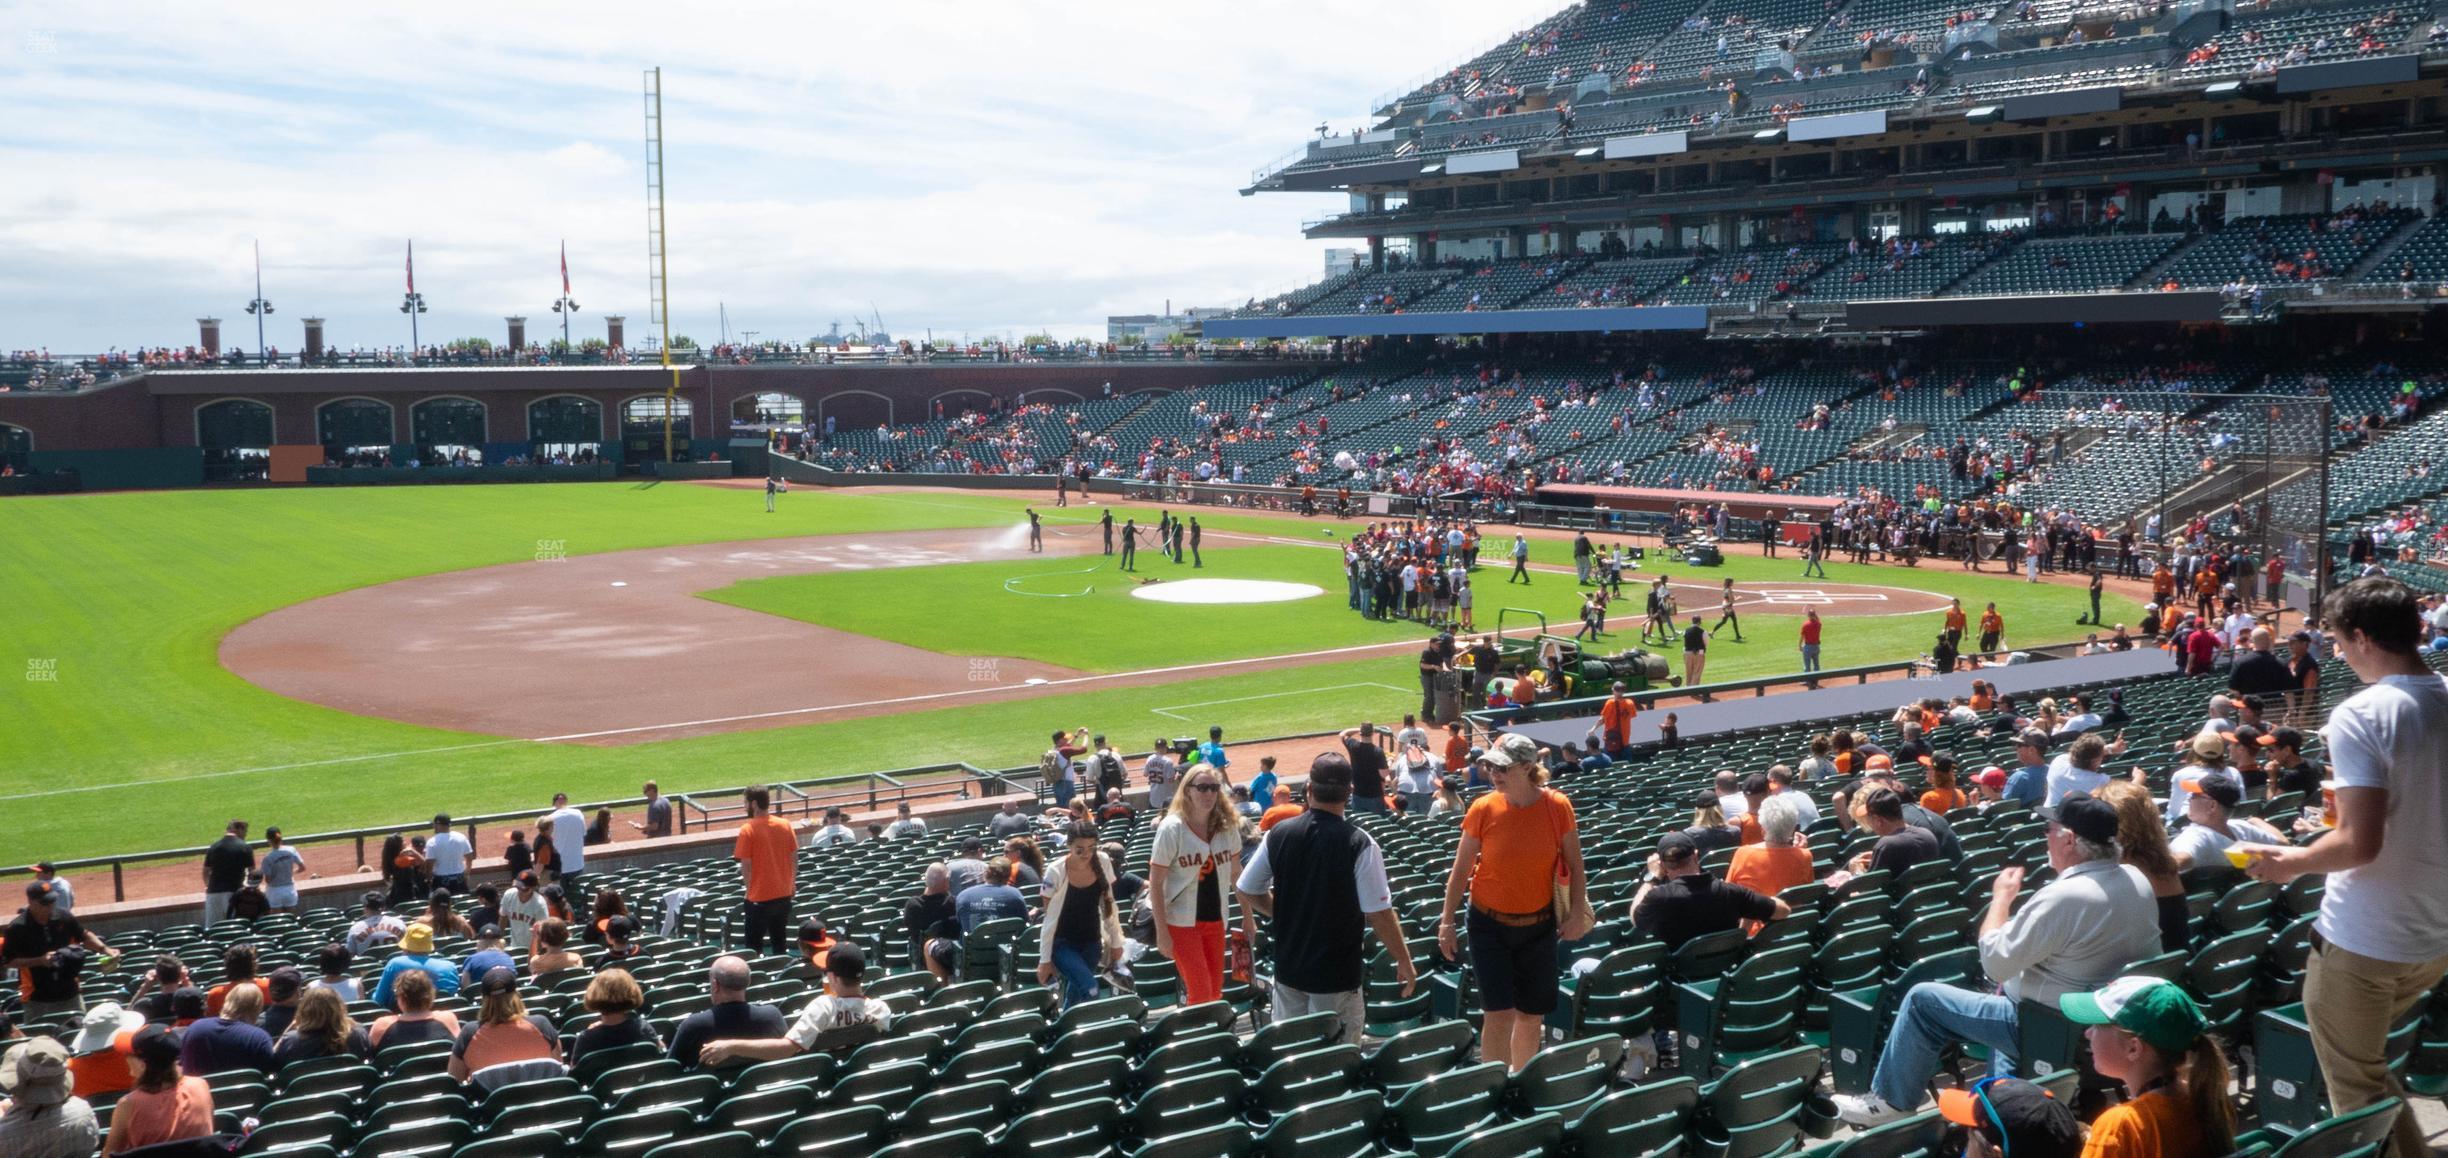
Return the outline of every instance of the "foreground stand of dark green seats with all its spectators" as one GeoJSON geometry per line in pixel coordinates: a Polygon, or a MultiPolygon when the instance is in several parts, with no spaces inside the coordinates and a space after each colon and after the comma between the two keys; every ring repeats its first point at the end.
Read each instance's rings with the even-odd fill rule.
{"type": "MultiPolygon", "coordinates": [[[[556,798],[507,881],[480,879],[436,818],[421,847],[387,850],[392,889],[355,921],[301,911],[294,869],[262,884],[284,845],[257,857],[233,823],[206,857],[206,925],[105,940],[54,874],[27,886],[0,940],[20,974],[0,999],[0,1146],[494,1153],[556,1131],[578,1151],[864,1153],[896,1131],[952,1151],[1070,1131],[1077,1153],[1114,1153],[1202,1129],[1283,1146],[1319,1129],[1310,1104],[1368,1134],[1417,1129],[1420,1102],[1474,1087],[1449,1138],[1545,1131],[1532,1153],[1650,1121],[1616,1109],[1694,1075],[1797,1111],[1834,1082],[1858,1131],[1954,1119],[2005,1153],[2213,1156],[2272,1138],[2245,1131],[2286,1097],[2257,1070],[2311,1065],[2326,1114],[2379,1107],[2372,1138],[2414,1156],[2406,1063],[2384,1040],[2406,1014],[2438,1018],[2448,969],[2436,605],[2387,578],[2330,595],[2304,651],[2335,681],[2284,708],[2318,730],[2247,693],[2260,634],[2220,668],[2029,712],[1976,683],[1765,744],[1635,747],[1616,710],[1586,749],[1359,725],[1300,791],[1273,759],[1234,771],[1222,730],[1158,744],[1136,783],[1104,737],[1055,732],[1043,813],[1006,796],[938,832],[903,805],[859,835],[840,813],[778,818],[749,788],[730,859],[681,874],[590,867],[610,818],[556,798]],[[1146,813],[1126,796],[1141,786],[1146,813]],[[886,918],[808,906],[852,879],[898,889],[886,918]],[[279,903],[240,906],[250,891],[279,903]],[[1821,1001],[1802,962],[1853,945],[1890,947],[1865,974],[1883,1016],[1848,1021],[1848,996],[1824,994],[1824,1053],[1799,1036],[1821,1001]],[[2245,989],[2218,982],[2230,957],[2245,989]],[[2237,996],[2255,987],[2277,996],[2237,996]],[[1665,989],[1772,999],[1682,1001],[1677,1018],[1665,989]],[[1459,994],[1476,1033],[1437,994],[1459,994]],[[2240,1070],[2250,1014],[2282,1006],[2308,1026],[2308,1063],[2262,1050],[2240,1070]],[[1635,1016],[1608,1021],[1618,1009],[1635,1016]],[[1430,1040],[1425,1070],[1386,1072],[1430,1040]],[[1200,1045],[1163,1053],[1175,1043],[1200,1045]],[[1782,1077],[1763,1077],[1767,1058],[1782,1077]],[[2049,1067],[2078,1077],[2034,1089],[2049,1067]],[[1204,1072],[1248,1102],[1168,1121],[1190,1102],[1165,1085],[1204,1072]],[[1444,1072],[1471,1077],[1408,1097],[1444,1072]],[[999,1094],[967,1111],[977,1141],[930,1134],[925,1097],[945,1111],[979,1075],[999,1094]],[[867,1104],[874,1119],[845,1114],[867,1104]]],[[[668,818],[666,801],[639,827],[668,818]]],[[[2431,1036],[2416,1077],[2448,1065],[2431,1036]]],[[[1718,1114],[1684,1102],[1660,1121],[1672,1141],[1726,1129],[1718,1114]]],[[[1760,1141],[1804,1141],[1802,1119],[1772,1119],[1760,1141]]]]}

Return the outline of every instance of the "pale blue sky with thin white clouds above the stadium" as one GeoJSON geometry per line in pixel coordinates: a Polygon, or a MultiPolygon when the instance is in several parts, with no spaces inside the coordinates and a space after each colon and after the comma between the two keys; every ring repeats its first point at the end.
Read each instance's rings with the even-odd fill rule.
{"type": "Polygon", "coordinates": [[[1251,171],[1557,0],[1408,5],[0,7],[0,348],[340,348],[646,328],[641,69],[663,66],[673,328],[1102,335],[1312,282],[1329,193],[1251,171]],[[377,15],[379,12],[379,15],[377,15]]]}

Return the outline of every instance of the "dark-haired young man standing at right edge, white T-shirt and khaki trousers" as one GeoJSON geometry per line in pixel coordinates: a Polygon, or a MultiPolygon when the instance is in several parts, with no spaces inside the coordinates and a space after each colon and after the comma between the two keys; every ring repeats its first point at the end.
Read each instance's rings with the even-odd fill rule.
{"type": "MultiPolygon", "coordinates": [[[[2321,737],[2338,779],[2338,825],[2306,847],[2252,850],[2255,879],[2328,874],[2304,1014],[2330,1107],[2350,1114],[2404,1097],[2389,1026],[2448,972],[2448,683],[2421,656],[2421,610],[2392,578],[2348,583],[2321,602],[2338,659],[2367,685],[2321,737]]],[[[2394,1153],[2424,1153],[2411,1114],[2394,1153]]]]}

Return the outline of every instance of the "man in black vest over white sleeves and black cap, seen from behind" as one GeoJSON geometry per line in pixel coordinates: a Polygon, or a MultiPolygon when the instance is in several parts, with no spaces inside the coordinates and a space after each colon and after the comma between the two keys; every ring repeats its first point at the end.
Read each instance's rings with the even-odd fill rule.
{"type": "Polygon", "coordinates": [[[1386,852],[1344,818],[1351,801],[1351,761],[1322,752],[1310,761],[1310,810],[1268,830],[1248,854],[1234,891],[1241,894],[1241,928],[1251,943],[1256,916],[1268,918],[1275,950],[1275,1016],[1334,1014],[1334,1040],[1359,1045],[1368,1011],[1361,1001],[1366,955],[1361,928],[1376,930],[1393,955],[1393,974],[1410,996],[1417,967],[1403,940],[1386,879],[1386,852]],[[1275,889],[1278,881],[1300,881],[1275,889]]]}

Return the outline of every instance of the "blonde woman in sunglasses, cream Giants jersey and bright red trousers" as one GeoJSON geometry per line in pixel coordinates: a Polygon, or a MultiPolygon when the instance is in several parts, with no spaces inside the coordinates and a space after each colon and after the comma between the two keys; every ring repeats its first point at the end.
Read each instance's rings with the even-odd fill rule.
{"type": "Polygon", "coordinates": [[[1155,952],[1173,957],[1185,1006],[1224,999],[1224,928],[1239,876],[1241,818],[1224,796],[1224,774],[1192,764],[1148,852],[1155,952]]]}

